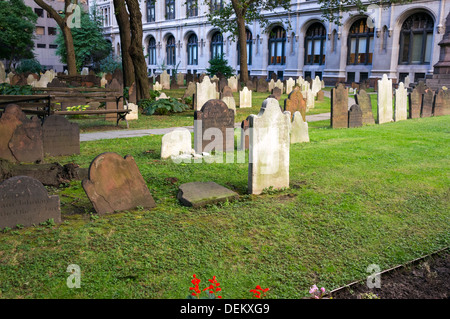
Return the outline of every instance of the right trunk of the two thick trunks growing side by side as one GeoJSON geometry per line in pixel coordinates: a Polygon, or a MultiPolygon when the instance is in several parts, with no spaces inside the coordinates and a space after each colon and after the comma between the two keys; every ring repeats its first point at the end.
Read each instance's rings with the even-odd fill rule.
{"type": "Polygon", "coordinates": [[[136,79],[137,100],[150,98],[150,86],[147,77],[147,63],[142,46],[142,14],[139,8],[139,0],[126,0],[128,12],[130,13],[131,45],[129,53],[134,65],[136,79]]]}

